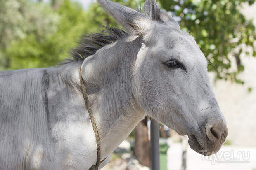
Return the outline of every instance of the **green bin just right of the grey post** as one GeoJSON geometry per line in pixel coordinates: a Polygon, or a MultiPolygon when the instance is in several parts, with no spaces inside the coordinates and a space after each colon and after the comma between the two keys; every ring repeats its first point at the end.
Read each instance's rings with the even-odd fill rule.
{"type": "Polygon", "coordinates": [[[167,144],[167,139],[160,138],[160,169],[167,170],[167,150],[169,145],[167,144]]]}

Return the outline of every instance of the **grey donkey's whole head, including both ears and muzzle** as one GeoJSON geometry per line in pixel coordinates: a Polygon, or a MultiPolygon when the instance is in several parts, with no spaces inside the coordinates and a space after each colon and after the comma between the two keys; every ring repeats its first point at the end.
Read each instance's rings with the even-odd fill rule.
{"type": "Polygon", "coordinates": [[[217,152],[228,130],[207,75],[207,60],[194,38],[161,11],[155,0],[145,2],[145,15],[98,0],[100,5],[142,47],[133,66],[133,95],[149,116],[189,136],[194,151],[217,152]]]}

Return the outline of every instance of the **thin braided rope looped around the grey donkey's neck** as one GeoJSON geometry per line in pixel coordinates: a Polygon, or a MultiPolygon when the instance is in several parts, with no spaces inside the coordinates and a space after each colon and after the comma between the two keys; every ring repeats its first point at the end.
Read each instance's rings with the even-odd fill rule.
{"type": "Polygon", "coordinates": [[[88,113],[89,113],[89,116],[90,116],[90,119],[92,122],[92,128],[93,128],[95,138],[96,138],[96,143],[97,143],[97,162],[96,162],[96,165],[93,165],[89,170],[98,170],[100,163],[105,161],[106,158],[104,158],[102,161],[100,161],[100,137],[99,137],[97,125],[95,123],[95,119],[93,116],[92,108],[89,103],[89,99],[88,99],[88,95],[87,95],[87,92],[85,89],[83,78],[81,76],[81,68],[80,68],[80,72],[79,72],[79,79],[80,79],[81,89],[82,89],[82,93],[83,93],[83,99],[85,101],[85,106],[88,110],[88,113]]]}

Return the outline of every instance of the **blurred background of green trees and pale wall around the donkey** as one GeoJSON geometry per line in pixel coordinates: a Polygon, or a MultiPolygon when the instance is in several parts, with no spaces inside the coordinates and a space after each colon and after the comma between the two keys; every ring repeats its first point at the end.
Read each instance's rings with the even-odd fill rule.
{"type": "MultiPolygon", "coordinates": [[[[133,9],[144,0],[112,0],[133,9]]],[[[161,170],[256,170],[255,0],[158,0],[209,61],[209,75],[229,134],[201,156],[187,138],[160,125],[161,170]]],[[[95,0],[0,0],[0,71],[54,66],[69,58],[83,33],[121,28],[95,0]]],[[[111,155],[103,170],[150,169],[149,118],[111,155]]]]}

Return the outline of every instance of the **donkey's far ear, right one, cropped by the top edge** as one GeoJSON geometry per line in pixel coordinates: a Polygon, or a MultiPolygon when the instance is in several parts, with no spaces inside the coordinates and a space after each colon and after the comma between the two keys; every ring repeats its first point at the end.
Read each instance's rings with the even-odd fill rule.
{"type": "Polygon", "coordinates": [[[159,8],[156,0],[146,0],[144,4],[145,15],[154,21],[163,21],[175,29],[180,29],[179,24],[167,12],[159,8]]]}

